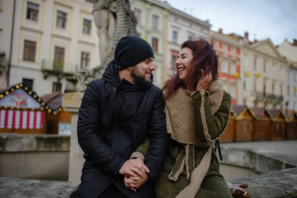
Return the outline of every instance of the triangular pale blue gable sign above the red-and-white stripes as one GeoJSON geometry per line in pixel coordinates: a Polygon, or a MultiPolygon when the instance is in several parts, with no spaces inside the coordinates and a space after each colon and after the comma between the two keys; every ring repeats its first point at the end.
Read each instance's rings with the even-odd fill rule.
{"type": "Polygon", "coordinates": [[[24,90],[17,89],[0,99],[0,106],[40,108],[41,104],[24,90]]]}

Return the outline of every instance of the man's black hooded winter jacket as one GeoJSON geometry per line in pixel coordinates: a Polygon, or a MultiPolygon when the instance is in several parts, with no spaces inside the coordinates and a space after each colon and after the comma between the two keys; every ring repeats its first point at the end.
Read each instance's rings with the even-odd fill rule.
{"type": "MultiPolygon", "coordinates": [[[[103,77],[88,84],[79,108],[77,135],[86,159],[81,179],[82,183],[97,183],[95,195],[98,196],[113,183],[128,197],[130,193],[146,197],[153,194],[152,184],[134,193],[124,186],[123,176],[118,172],[132,152],[149,137],[151,143],[145,165],[152,180],[159,176],[170,142],[163,95],[154,85],[144,87],[120,80],[114,68],[111,61],[103,77]],[[88,181],[97,180],[94,176],[84,178],[92,171],[99,175],[99,181],[88,181]]],[[[90,187],[85,190],[93,191],[90,187]]]]}

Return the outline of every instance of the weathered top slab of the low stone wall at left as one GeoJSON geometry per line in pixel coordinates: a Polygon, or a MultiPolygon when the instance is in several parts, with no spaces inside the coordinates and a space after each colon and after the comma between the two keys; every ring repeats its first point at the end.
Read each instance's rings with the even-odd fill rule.
{"type": "Polygon", "coordinates": [[[69,150],[70,136],[0,134],[0,152],[69,150]]]}

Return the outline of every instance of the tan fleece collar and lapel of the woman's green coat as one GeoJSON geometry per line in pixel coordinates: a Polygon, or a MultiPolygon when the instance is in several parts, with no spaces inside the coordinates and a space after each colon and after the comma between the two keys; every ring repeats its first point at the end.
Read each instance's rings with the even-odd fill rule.
{"type": "MultiPolygon", "coordinates": [[[[199,92],[199,91],[198,91],[199,92]]],[[[201,143],[195,133],[194,110],[192,91],[179,88],[176,93],[166,101],[166,125],[171,138],[182,144],[197,147],[209,147],[211,143],[201,143]]],[[[195,92],[196,93],[196,92],[195,92]]],[[[223,100],[223,85],[214,81],[207,89],[211,113],[214,114],[221,106],[223,100]]]]}

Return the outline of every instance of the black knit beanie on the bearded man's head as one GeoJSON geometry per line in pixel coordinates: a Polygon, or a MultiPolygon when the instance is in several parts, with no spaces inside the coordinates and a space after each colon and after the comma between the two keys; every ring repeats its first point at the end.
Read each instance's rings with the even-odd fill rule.
{"type": "Polygon", "coordinates": [[[136,36],[123,37],[114,49],[114,60],[118,70],[137,65],[153,57],[153,51],[145,40],[136,36]]]}

